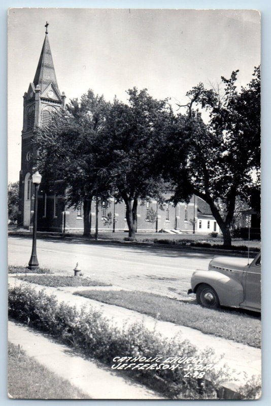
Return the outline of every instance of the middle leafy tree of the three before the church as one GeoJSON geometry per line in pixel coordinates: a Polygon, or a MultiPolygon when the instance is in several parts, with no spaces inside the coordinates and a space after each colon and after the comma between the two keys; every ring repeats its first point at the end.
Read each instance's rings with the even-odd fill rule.
{"type": "Polygon", "coordinates": [[[128,105],[115,99],[107,115],[99,156],[116,200],[125,202],[129,237],[134,239],[139,199],[161,197],[164,190],[160,161],[153,158],[173,114],[166,100],[152,98],[146,89],[127,93],[128,105]]]}

